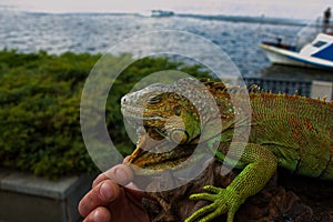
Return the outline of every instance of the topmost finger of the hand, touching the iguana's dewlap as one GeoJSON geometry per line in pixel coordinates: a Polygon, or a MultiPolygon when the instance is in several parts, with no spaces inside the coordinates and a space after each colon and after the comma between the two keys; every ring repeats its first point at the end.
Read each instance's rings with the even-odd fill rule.
{"type": "Polygon", "coordinates": [[[121,185],[125,185],[133,180],[133,172],[129,165],[118,164],[110,170],[101,173],[92,183],[92,188],[99,184],[101,181],[112,180],[121,185]]]}

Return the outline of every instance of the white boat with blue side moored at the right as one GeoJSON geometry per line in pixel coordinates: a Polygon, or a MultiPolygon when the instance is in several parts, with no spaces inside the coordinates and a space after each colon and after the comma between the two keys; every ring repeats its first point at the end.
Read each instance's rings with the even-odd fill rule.
{"type": "Polygon", "coordinates": [[[297,67],[311,67],[333,70],[333,36],[319,33],[316,38],[297,50],[296,47],[263,41],[259,47],[266,53],[272,63],[297,67]]]}

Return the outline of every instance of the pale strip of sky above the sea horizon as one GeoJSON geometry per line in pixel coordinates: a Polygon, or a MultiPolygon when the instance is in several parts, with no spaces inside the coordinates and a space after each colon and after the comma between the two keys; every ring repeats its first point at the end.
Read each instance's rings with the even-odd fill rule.
{"type": "Polygon", "coordinates": [[[266,16],[315,19],[332,0],[0,0],[0,6],[36,12],[140,12],[266,16]]]}

